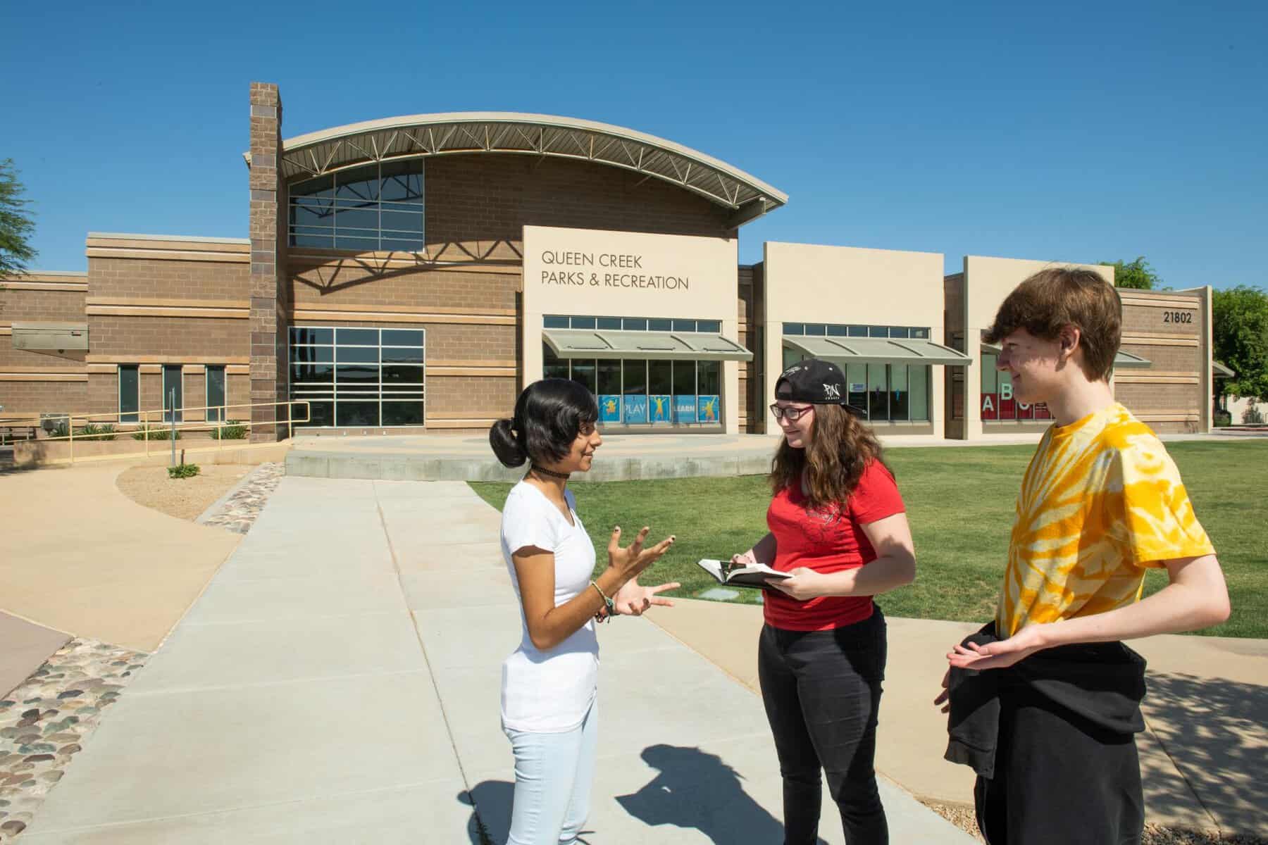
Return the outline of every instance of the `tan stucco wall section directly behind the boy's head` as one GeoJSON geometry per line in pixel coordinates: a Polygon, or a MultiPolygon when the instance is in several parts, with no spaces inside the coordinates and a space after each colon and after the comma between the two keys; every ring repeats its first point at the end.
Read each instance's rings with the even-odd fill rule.
{"type": "MultiPolygon", "coordinates": [[[[1092,270],[1111,285],[1113,267],[1066,261],[1030,261],[1025,258],[992,258],[965,256],[961,324],[965,326],[965,352],[973,357],[965,378],[964,422],[965,440],[990,440],[994,435],[1017,436],[1035,426],[1021,423],[1017,428],[981,424],[981,336],[995,321],[995,312],[1013,288],[1046,267],[1082,267],[1092,270]]],[[[1038,440],[1038,435],[1035,435],[1038,440]]]]}

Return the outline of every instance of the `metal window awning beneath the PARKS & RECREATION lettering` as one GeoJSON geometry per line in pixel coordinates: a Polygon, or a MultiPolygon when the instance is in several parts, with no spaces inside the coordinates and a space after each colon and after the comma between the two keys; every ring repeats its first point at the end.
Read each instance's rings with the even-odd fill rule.
{"type": "Polygon", "coordinates": [[[541,340],[562,359],[753,360],[752,352],[721,334],[548,328],[541,340]]]}

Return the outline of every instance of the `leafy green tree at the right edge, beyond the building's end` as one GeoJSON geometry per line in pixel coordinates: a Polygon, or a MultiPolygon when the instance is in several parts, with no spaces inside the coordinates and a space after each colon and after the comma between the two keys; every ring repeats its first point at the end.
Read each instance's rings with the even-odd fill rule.
{"type": "Polygon", "coordinates": [[[1216,381],[1220,394],[1268,399],[1268,293],[1238,285],[1211,299],[1215,359],[1238,374],[1216,381]]]}

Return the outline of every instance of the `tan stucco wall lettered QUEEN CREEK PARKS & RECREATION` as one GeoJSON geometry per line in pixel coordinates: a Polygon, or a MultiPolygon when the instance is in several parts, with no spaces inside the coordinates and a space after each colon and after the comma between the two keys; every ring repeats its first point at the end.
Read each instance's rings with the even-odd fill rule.
{"type": "MultiPolygon", "coordinates": [[[[541,329],[545,314],[715,319],[721,334],[739,342],[735,308],[739,255],[734,238],[685,234],[605,232],[544,226],[524,227],[524,293],[520,332],[524,384],[541,378],[541,329]],[[593,264],[549,264],[548,253],[593,256],[593,264]],[[600,256],[638,256],[638,267],[609,267],[600,256]],[[582,284],[558,284],[544,274],[579,272],[582,284]],[[628,288],[610,275],[642,274],[689,280],[675,289],[628,288]]],[[[522,388],[522,385],[521,385],[522,388]]],[[[723,431],[739,431],[739,365],[721,366],[723,431]]]]}

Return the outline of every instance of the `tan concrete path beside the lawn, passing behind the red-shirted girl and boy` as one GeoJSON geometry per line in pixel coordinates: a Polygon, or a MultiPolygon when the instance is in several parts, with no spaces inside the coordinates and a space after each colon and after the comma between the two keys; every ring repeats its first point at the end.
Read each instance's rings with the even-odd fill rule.
{"type": "MultiPolygon", "coordinates": [[[[760,606],[676,599],[649,618],[757,690],[760,606]]],[[[974,774],[942,759],[946,716],[932,702],[946,652],[980,626],[888,622],[876,768],[922,798],[971,804],[974,774]]],[[[1131,646],[1149,663],[1146,730],[1136,742],[1146,821],[1262,835],[1268,826],[1268,641],[1158,636],[1131,646]]]]}

